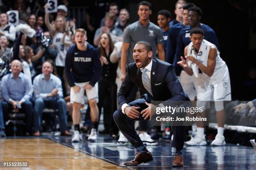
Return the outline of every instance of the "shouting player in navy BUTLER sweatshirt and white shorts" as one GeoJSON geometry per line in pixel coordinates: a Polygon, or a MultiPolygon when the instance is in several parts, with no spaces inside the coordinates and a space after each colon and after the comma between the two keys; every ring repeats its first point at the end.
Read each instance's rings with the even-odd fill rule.
{"type": "Polygon", "coordinates": [[[98,83],[102,66],[98,52],[87,40],[86,31],[79,28],[75,32],[75,42],[67,51],[65,60],[65,74],[69,82],[70,102],[73,103],[72,118],[74,123],[74,137],[72,142],[82,140],[80,136],[80,107],[84,104],[84,90],[90,105],[90,116],[92,120],[92,130],[88,140],[97,140],[97,124],[99,118],[98,83]]]}

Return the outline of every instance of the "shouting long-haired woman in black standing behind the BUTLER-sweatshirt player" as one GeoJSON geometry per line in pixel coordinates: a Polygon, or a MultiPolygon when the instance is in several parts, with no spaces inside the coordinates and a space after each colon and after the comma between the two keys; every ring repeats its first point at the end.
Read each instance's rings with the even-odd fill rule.
{"type": "Polygon", "coordinates": [[[116,70],[118,63],[110,61],[110,55],[113,52],[114,45],[110,34],[103,33],[100,35],[100,62],[102,65],[102,73],[99,80],[99,114],[101,108],[104,108],[104,130],[101,133],[109,133],[111,137],[117,138],[118,128],[113,120],[113,112],[116,110],[116,91],[115,84],[116,70]],[[112,125],[110,123],[112,122],[112,125]]]}

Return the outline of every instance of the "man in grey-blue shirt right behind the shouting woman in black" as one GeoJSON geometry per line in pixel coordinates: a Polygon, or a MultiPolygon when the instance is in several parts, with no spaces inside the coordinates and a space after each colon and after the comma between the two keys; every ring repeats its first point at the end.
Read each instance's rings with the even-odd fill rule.
{"type": "Polygon", "coordinates": [[[105,15],[105,26],[98,28],[94,35],[93,43],[95,46],[99,46],[100,35],[103,33],[110,34],[113,43],[123,40],[123,31],[119,28],[115,28],[116,16],[113,13],[107,13],[105,15]]]}

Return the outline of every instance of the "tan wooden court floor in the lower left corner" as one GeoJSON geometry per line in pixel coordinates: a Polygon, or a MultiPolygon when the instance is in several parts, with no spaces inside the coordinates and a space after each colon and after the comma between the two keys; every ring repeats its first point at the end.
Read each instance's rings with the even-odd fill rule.
{"type": "Polygon", "coordinates": [[[0,161],[29,162],[29,168],[2,168],[7,170],[112,170],[122,168],[90,155],[80,153],[49,139],[40,138],[0,139],[0,161]]]}

